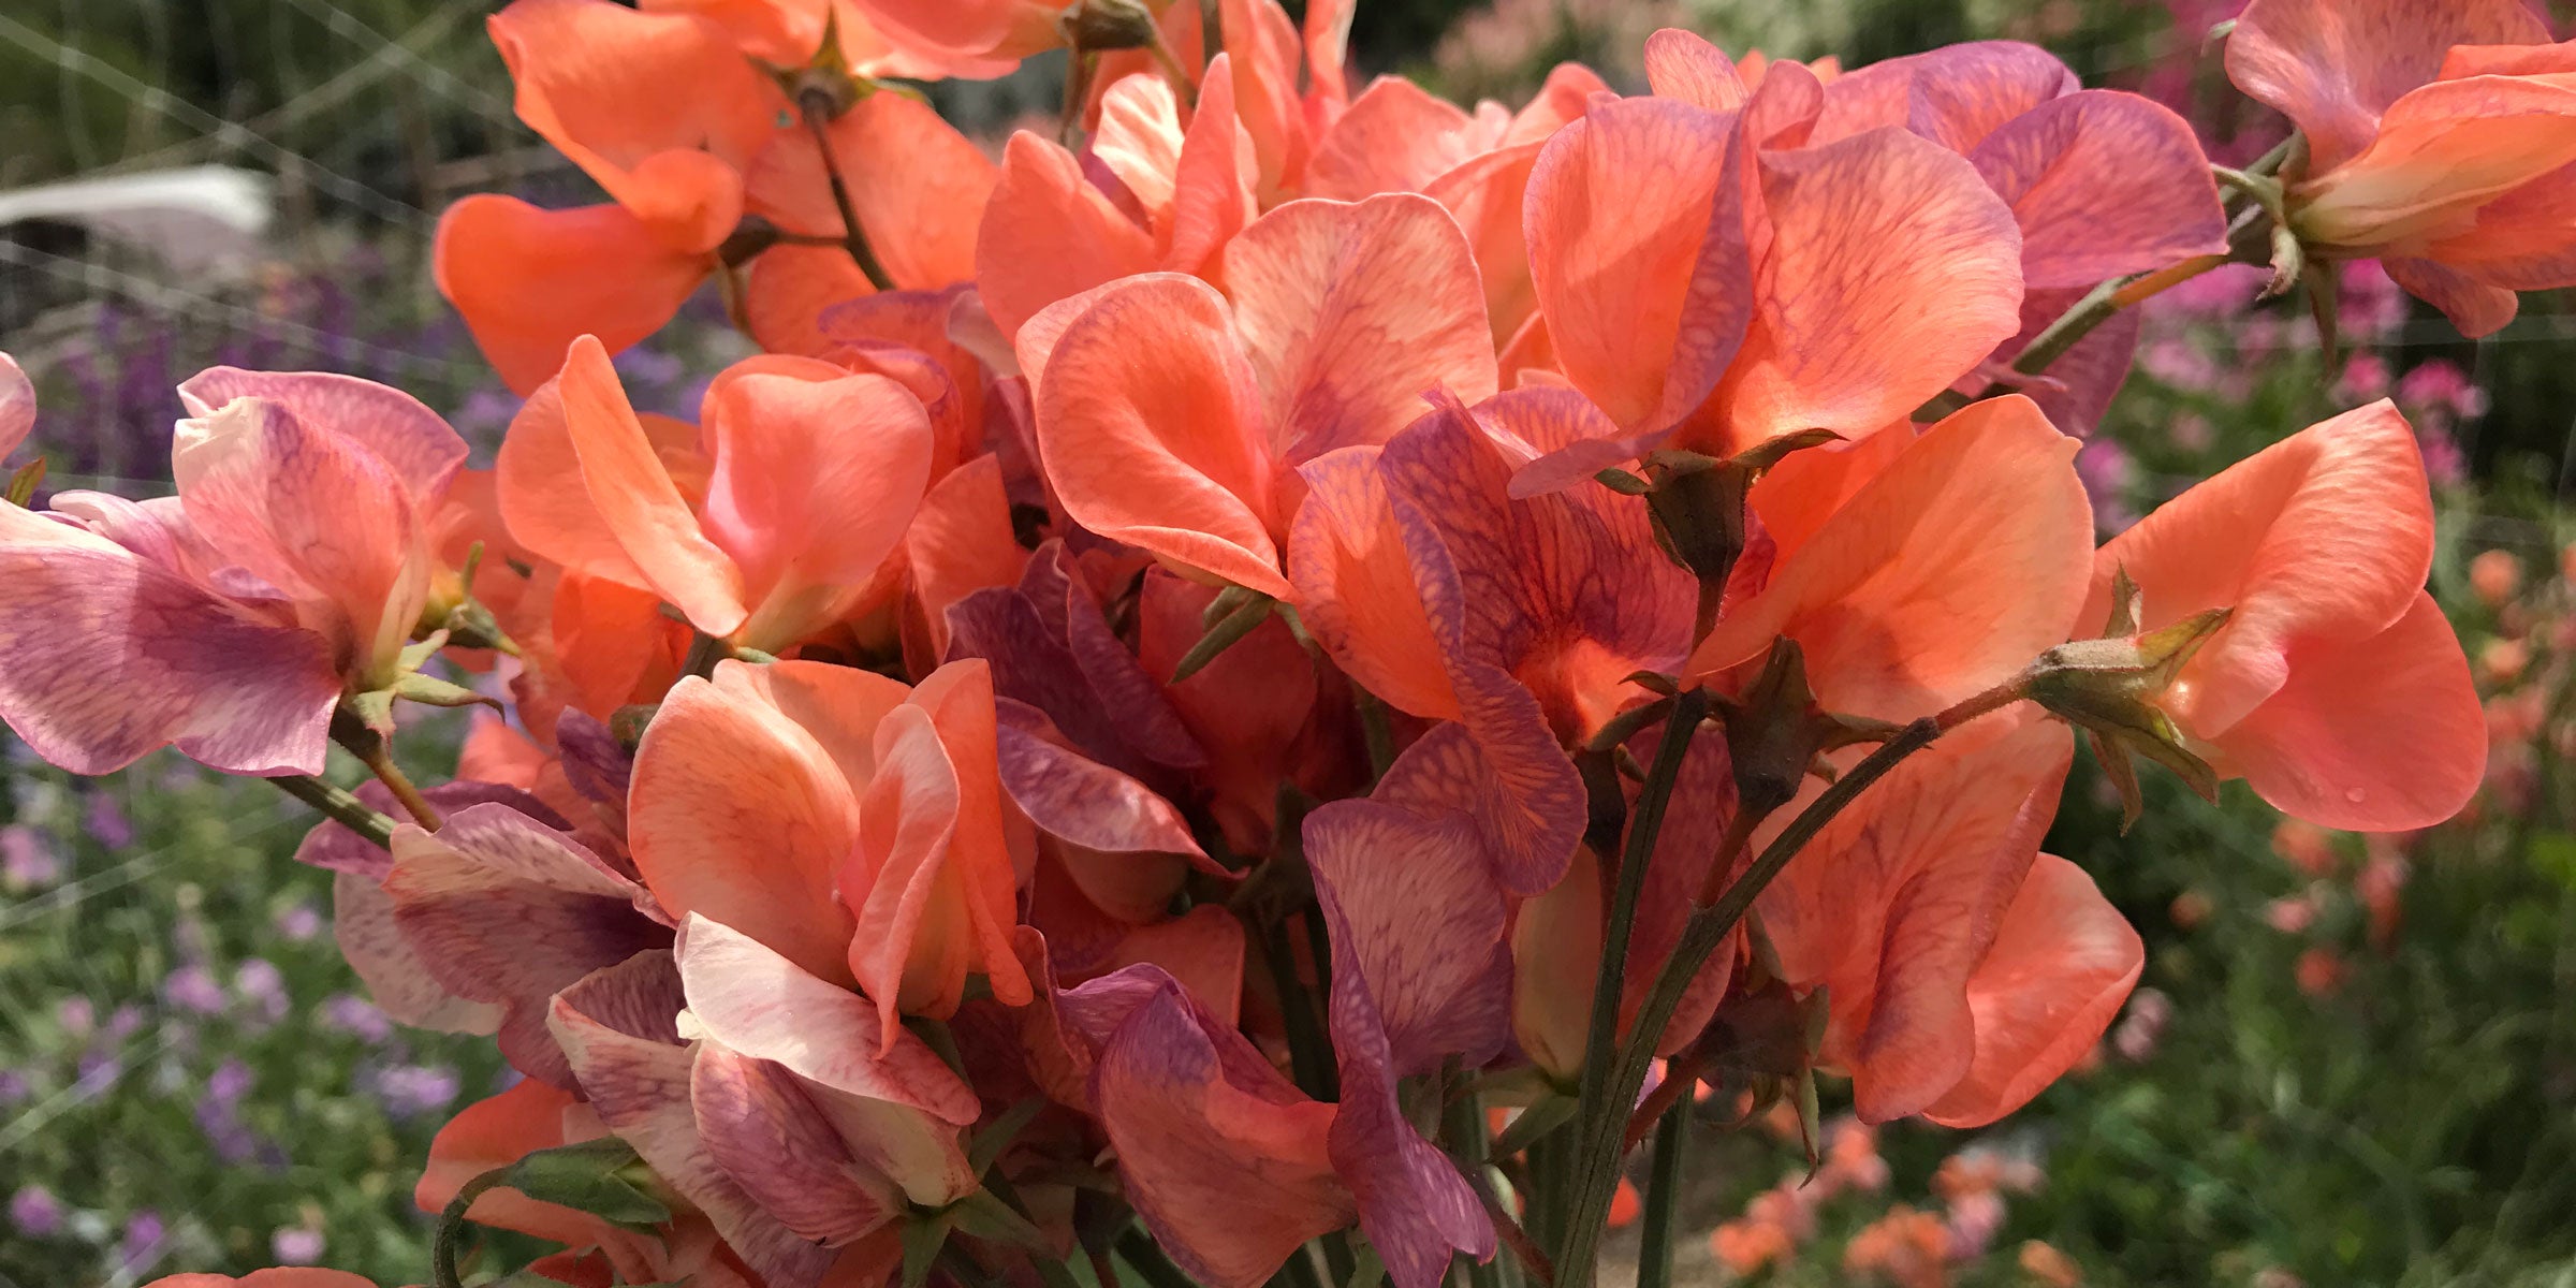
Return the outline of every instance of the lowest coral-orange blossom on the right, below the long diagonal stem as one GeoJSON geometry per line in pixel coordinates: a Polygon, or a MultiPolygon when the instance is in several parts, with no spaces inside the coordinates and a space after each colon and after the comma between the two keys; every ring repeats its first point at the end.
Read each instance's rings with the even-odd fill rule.
{"type": "Polygon", "coordinates": [[[1780,979],[1829,989],[1821,1059],[1852,1074],[1862,1121],[1991,1123],[2128,999],[2146,963],[2136,930],[2081,868],[2038,853],[2071,757],[2045,719],[1950,734],[1762,891],[1780,979]]]}

